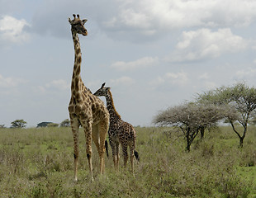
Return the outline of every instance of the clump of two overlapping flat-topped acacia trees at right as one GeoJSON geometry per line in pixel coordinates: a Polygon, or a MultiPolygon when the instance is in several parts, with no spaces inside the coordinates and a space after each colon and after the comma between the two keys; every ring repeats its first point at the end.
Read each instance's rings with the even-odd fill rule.
{"type": "Polygon", "coordinates": [[[154,116],[153,123],[173,126],[181,131],[187,141],[186,149],[190,151],[197,134],[201,134],[202,139],[206,129],[222,121],[231,125],[242,148],[249,123],[256,123],[255,109],[256,88],[239,82],[231,87],[218,87],[203,92],[197,95],[195,101],[160,111],[154,116]]]}

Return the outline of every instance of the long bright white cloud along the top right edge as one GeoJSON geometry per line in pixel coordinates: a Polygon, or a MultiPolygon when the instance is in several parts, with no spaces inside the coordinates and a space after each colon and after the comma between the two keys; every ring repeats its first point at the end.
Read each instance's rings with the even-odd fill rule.
{"type": "MultiPolygon", "coordinates": [[[[254,0],[130,0],[103,24],[137,30],[170,30],[194,26],[248,26],[256,17],[254,0]]],[[[155,31],[157,32],[157,31],[155,31]]]]}

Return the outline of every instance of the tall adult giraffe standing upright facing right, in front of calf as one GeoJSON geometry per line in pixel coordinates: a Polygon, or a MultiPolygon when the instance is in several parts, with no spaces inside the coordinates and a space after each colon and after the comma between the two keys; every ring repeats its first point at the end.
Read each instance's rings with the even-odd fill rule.
{"type": "Polygon", "coordinates": [[[71,82],[71,98],[69,101],[69,117],[73,132],[73,158],[74,158],[74,181],[78,181],[78,130],[83,127],[86,139],[86,153],[89,171],[92,176],[92,140],[97,147],[100,157],[100,172],[104,172],[105,139],[109,126],[109,113],[104,102],[95,97],[87,87],[84,86],[80,76],[82,54],[78,34],[88,35],[84,28],[87,19],[81,20],[79,15],[69,18],[74,47],[73,76],[71,82]]]}

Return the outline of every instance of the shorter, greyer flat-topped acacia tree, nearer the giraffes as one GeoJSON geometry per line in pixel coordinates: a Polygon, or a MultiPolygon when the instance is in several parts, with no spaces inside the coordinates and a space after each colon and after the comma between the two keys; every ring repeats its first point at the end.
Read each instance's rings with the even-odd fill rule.
{"type": "Polygon", "coordinates": [[[228,112],[230,113],[230,110],[224,106],[189,102],[159,112],[154,117],[153,123],[155,125],[174,126],[182,131],[187,140],[186,149],[189,152],[192,141],[197,137],[197,134],[203,134],[206,127],[216,125],[228,112]]]}

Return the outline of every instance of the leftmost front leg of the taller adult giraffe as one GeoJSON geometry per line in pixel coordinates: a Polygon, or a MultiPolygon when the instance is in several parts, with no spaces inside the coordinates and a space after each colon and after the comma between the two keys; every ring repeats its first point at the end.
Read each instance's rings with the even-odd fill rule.
{"type": "Polygon", "coordinates": [[[70,125],[73,133],[73,158],[74,158],[74,181],[78,181],[78,130],[79,130],[79,121],[78,117],[73,115],[70,116],[70,125]]]}

